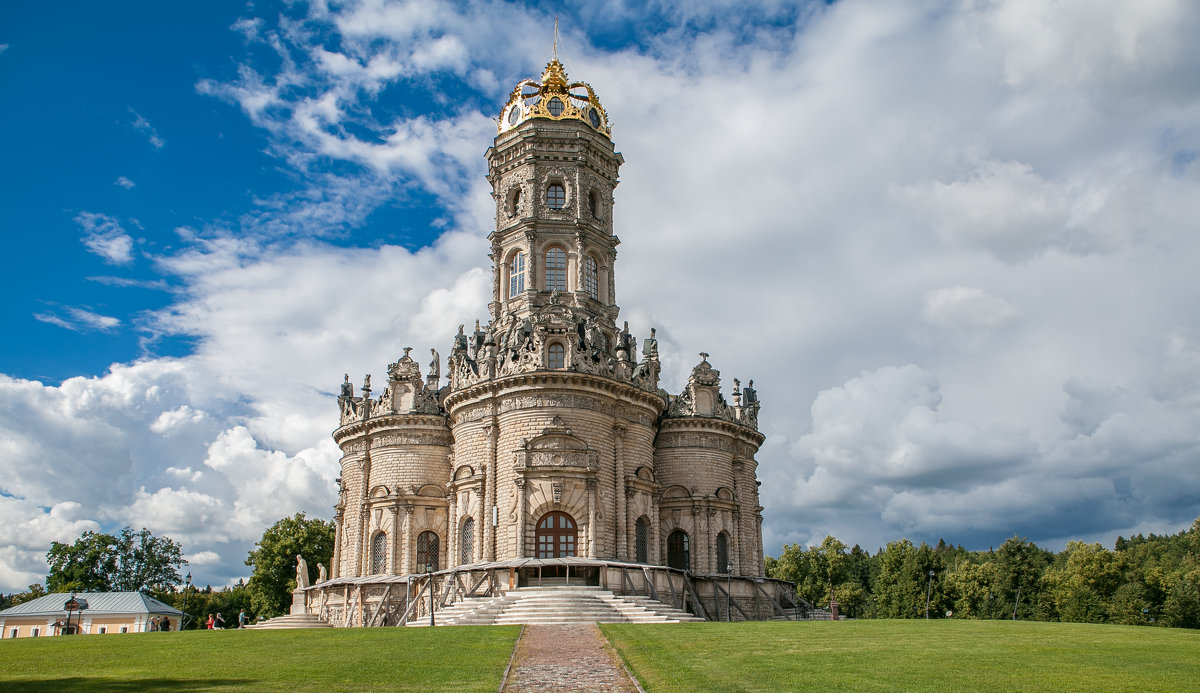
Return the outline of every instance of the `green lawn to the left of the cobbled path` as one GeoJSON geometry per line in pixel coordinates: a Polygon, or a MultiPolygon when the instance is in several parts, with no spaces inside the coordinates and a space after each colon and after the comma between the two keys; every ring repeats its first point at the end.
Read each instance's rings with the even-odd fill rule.
{"type": "Polygon", "coordinates": [[[188,631],[0,640],[0,691],[487,691],[520,626],[188,631]]]}

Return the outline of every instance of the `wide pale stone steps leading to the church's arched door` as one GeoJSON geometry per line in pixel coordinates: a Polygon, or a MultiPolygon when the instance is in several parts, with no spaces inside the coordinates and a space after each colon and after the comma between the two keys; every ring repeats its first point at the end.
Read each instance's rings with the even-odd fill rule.
{"type": "MultiPolygon", "coordinates": [[[[499,597],[468,597],[434,615],[438,626],[508,623],[678,623],[702,621],[656,599],[618,596],[600,587],[521,587],[499,597]]],[[[428,619],[408,623],[428,626],[428,619]]]]}

